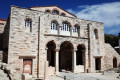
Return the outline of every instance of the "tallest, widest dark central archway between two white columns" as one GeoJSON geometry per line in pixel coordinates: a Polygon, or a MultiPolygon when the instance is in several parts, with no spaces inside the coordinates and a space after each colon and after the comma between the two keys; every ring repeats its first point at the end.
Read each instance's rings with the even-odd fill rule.
{"type": "Polygon", "coordinates": [[[59,70],[72,71],[72,53],[73,45],[69,41],[65,41],[60,46],[59,70]]]}

